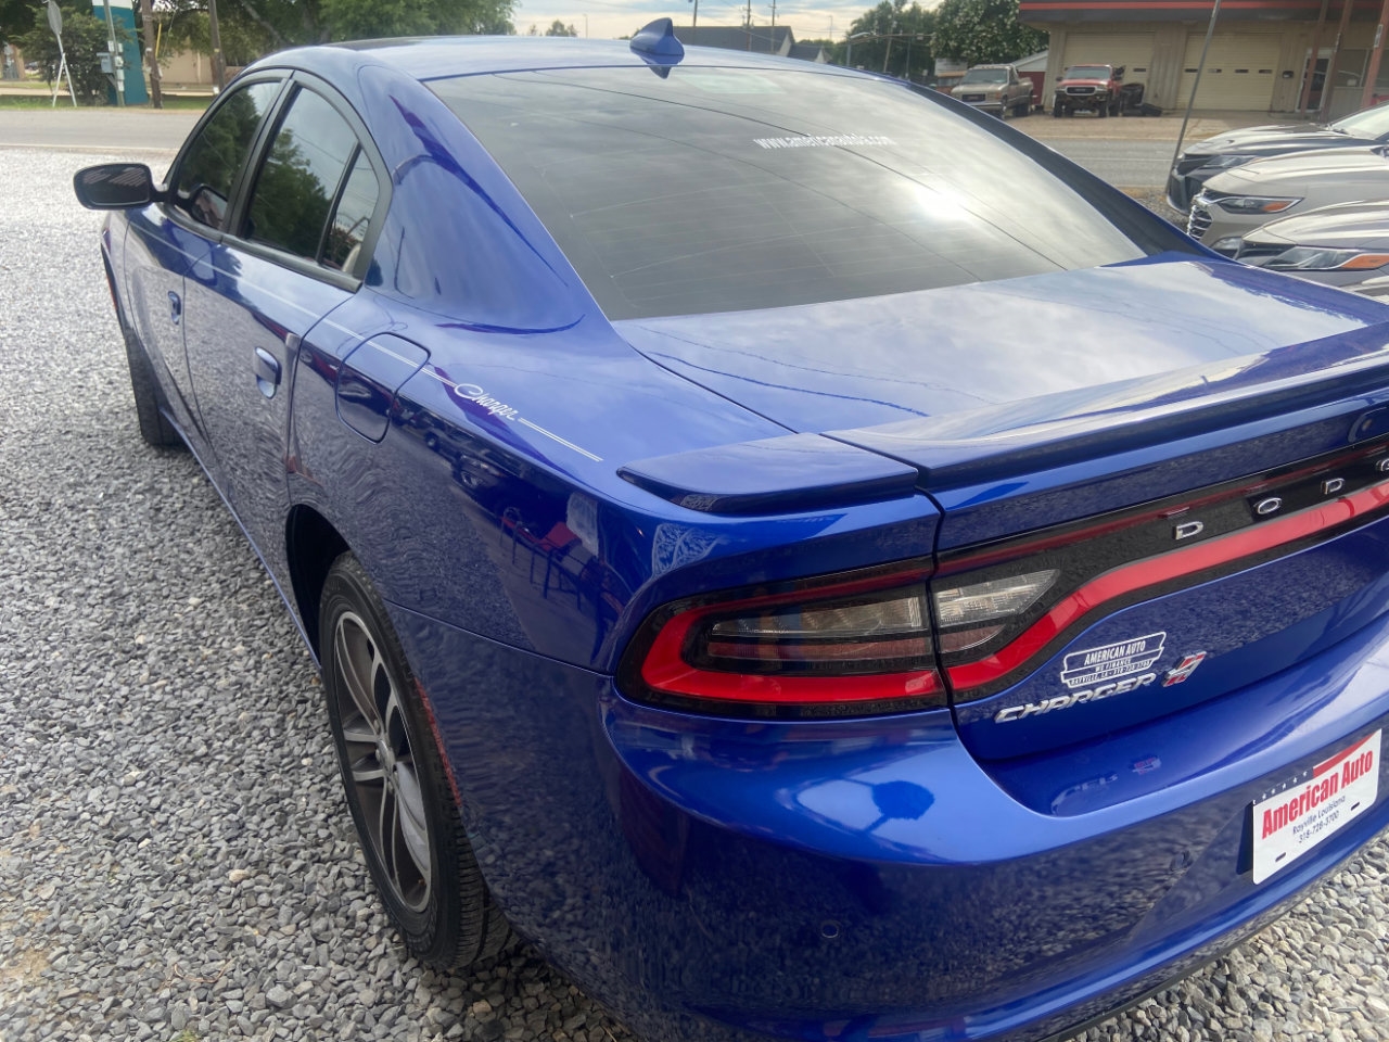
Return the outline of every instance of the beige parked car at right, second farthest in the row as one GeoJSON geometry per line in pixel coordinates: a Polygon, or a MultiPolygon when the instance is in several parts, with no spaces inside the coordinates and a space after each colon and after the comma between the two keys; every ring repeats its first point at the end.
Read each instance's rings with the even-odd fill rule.
{"type": "Polygon", "coordinates": [[[1389,146],[1299,151],[1217,174],[1192,200],[1188,233],[1232,254],[1256,228],[1335,203],[1389,199],[1389,146]]]}

